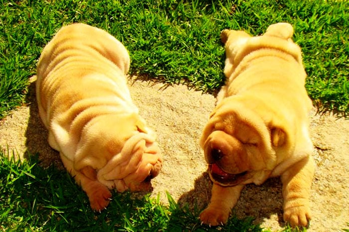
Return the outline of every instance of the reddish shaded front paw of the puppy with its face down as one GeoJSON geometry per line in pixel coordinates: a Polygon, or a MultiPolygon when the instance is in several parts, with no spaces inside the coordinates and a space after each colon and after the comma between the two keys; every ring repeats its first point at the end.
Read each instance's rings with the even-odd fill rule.
{"type": "Polygon", "coordinates": [[[102,184],[95,187],[94,191],[87,195],[90,200],[91,208],[95,211],[101,211],[109,205],[112,193],[102,184]]]}

